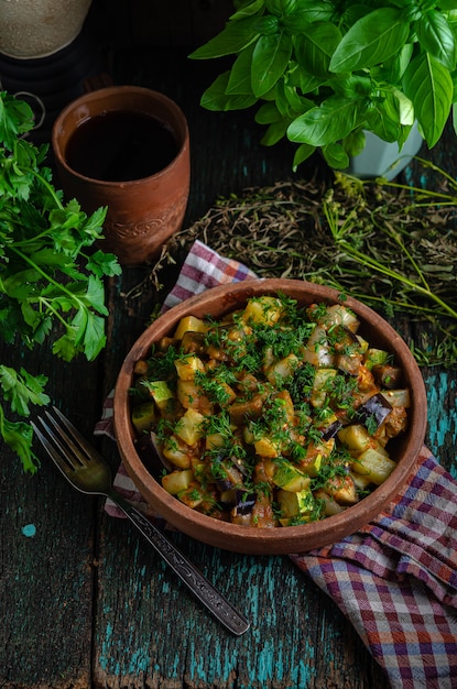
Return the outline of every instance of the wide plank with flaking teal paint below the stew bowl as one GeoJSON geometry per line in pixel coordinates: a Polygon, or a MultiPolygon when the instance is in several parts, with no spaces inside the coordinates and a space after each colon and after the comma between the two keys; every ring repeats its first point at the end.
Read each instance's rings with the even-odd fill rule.
{"type": "Polygon", "coordinates": [[[331,601],[286,557],[224,553],[175,534],[179,547],[251,620],[247,635],[235,638],[145,551],[129,525],[110,521],[104,531],[116,538],[100,553],[100,580],[120,579],[117,589],[100,590],[95,670],[100,685],[387,686],[380,670],[371,678],[371,659],[331,601]],[[129,561],[122,564],[119,553],[129,561]],[[127,630],[129,644],[122,647],[127,630]]]}

